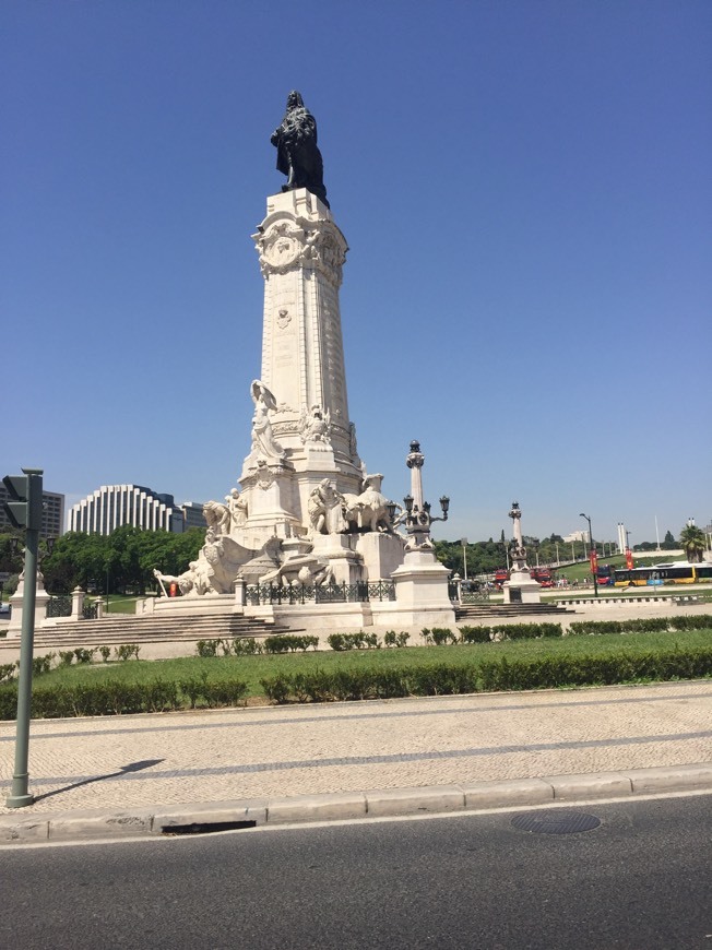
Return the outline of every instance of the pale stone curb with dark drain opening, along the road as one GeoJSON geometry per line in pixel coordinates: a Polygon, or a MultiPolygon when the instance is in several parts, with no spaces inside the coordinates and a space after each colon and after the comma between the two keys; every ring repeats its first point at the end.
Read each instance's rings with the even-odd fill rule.
{"type": "Polygon", "coordinates": [[[210,831],[211,826],[246,828],[428,812],[452,815],[512,806],[525,808],[548,801],[558,804],[673,792],[712,792],[712,763],[370,792],[144,806],[126,810],[97,809],[48,815],[28,815],[19,810],[0,816],[0,844],[162,836],[195,826],[210,831]]]}

